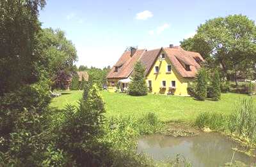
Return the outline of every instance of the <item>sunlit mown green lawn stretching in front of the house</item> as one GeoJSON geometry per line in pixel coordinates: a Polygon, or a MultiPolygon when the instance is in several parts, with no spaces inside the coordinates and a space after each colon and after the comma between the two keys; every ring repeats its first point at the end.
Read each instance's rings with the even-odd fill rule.
{"type": "MultiPolygon", "coordinates": [[[[145,112],[154,112],[159,119],[168,120],[192,120],[199,112],[234,111],[239,98],[248,97],[242,94],[221,94],[220,101],[196,101],[190,97],[164,96],[149,94],[148,96],[128,96],[126,94],[102,91],[106,103],[106,116],[124,114],[140,115],[145,112]]],[[[82,97],[83,91],[67,91],[58,98],[52,99],[51,106],[59,109],[65,108],[67,103],[77,105],[77,100],[82,97]]]]}

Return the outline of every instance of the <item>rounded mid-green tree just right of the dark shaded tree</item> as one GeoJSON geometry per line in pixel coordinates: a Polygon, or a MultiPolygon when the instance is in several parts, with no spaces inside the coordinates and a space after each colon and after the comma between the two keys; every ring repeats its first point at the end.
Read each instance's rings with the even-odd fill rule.
{"type": "Polygon", "coordinates": [[[40,49],[44,54],[45,69],[52,79],[56,78],[61,70],[76,71],[73,63],[77,60],[76,48],[72,41],[67,40],[65,33],[60,29],[42,29],[37,35],[40,49]]]}

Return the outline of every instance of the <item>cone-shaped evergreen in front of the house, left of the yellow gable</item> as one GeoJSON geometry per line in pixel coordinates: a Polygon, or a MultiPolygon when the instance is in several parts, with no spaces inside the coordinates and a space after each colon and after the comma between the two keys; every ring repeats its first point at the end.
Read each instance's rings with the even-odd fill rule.
{"type": "Polygon", "coordinates": [[[145,68],[141,62],[136,62],[134,71],[132,74],[132,80],[129,84],[129,94],[132,96],[144,96],[147,95],[147,85],[145,81],[145,68]]]}

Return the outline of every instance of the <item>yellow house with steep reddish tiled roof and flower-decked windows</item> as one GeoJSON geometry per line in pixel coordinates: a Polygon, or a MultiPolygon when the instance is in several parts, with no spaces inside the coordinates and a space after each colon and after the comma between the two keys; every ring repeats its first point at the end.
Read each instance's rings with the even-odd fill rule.
{"type": "MultiPolygon", "coordinates": [[[[131,53],[127,52],[126,54],[131,53]]],[[[136,61],[141,61],[145,66],[145,77],[150,92],[154,94],[174,94],[179,96],[188,96],[188,83],[194,80],[196,72],[200,68],[200,62],[204,61],[200,54],[188,52],[181,47],[173,47],[173,45],[170,45],[168,48],[158,48],[148,51],[143,50],[143,52],[137,55],[136,59],[132,60],[130,58],[126,59],[125,62],[134,64],[136,61]]],[[[123,56],[120,59],[122,59],[122,61],[125,60],[123,56]]],[[[118,65],[120,62],[118,61],[116,64],[118,65]]],[[[129,78],[133,70],[133,66],[130,67],[129,75],[124,78],[109,77],[113,75],[120,76],[121,73],[125,73],[127,70],[127,68],[122,68],[121,66],[119,71],[116,71],[117,65],[113,67],[114,70],[111,70],[107,76],[108,82],[111,83],[109,84],[109,90],[111,91],[115,90],[118,80],[122,81],[124,78],[129,78]],[[113,82],[115,84],[112,84],[113,82]]],[[[127,87],[125,83],[120,84],[123,88],[127,87]]]]}

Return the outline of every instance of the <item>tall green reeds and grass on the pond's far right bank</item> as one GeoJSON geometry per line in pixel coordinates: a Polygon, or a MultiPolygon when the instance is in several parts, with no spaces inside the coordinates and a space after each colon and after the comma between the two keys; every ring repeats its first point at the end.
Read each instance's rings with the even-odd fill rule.
{"type": "Polygon", "coordinates": [[[230,131],[247,139],[251,145],[256,142],[256,102],[253,98],[240,99],[234,112],[228,115],[215,112],[200,113],[196,117],[195,126],[230,131]]]}

